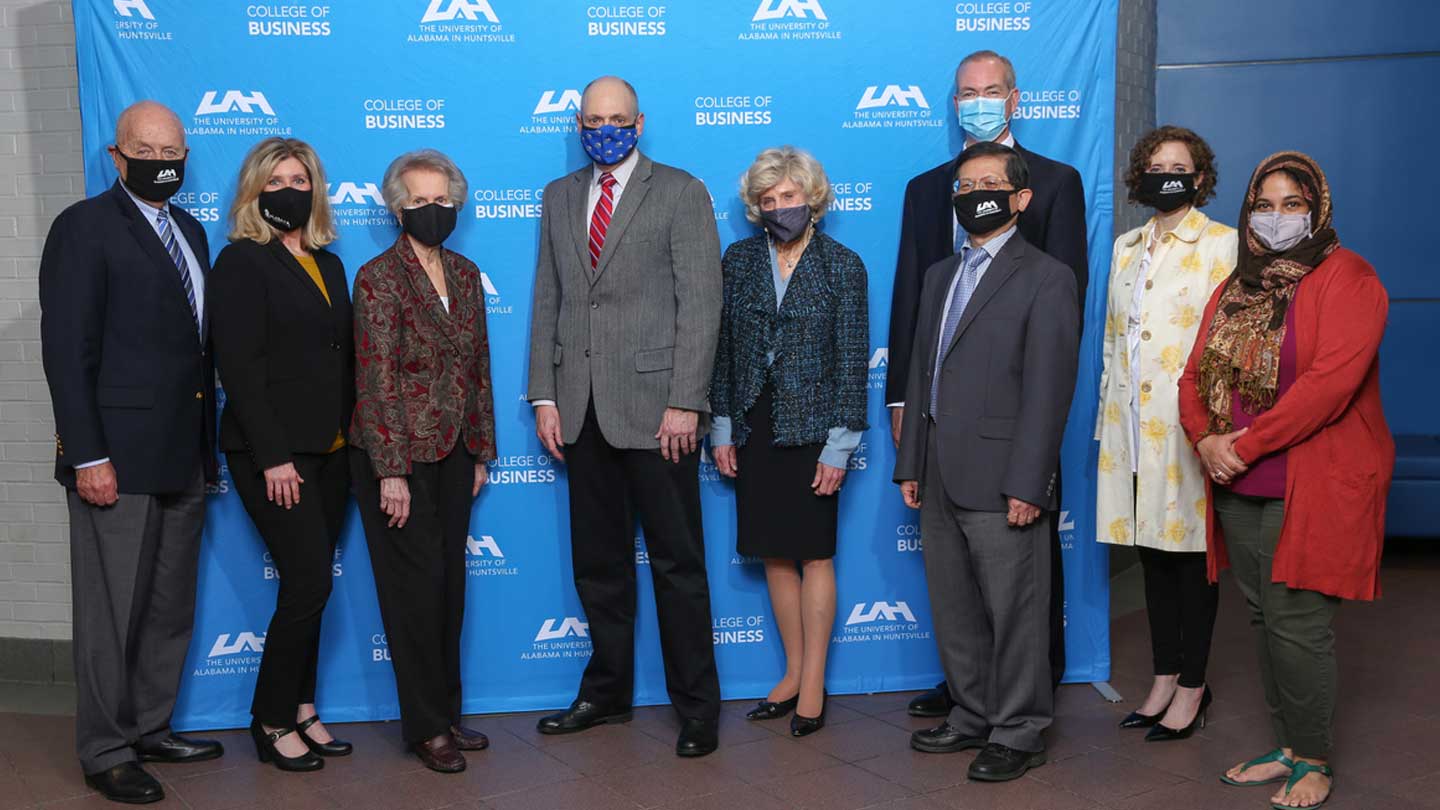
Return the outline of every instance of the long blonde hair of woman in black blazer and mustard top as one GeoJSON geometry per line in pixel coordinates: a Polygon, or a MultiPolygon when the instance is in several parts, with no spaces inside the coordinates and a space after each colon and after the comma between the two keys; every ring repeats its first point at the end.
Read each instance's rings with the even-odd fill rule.
{"type": "Polygon", "coordinates": [[[240,163],[240,176],[235,182],[235,202],[230,203],[232,242],[255,239],[265,245],[281,233],[261,216],[259,199],[275,167],[291,157],[305,167],[311,187],[310,221],[300,229],[300,242],[305,249],[314,249],[336,241],[336,219],[330,212],[325,169],[320,164],[315,150],[298,138],[265,138],[255,144],[240,163]]]}

